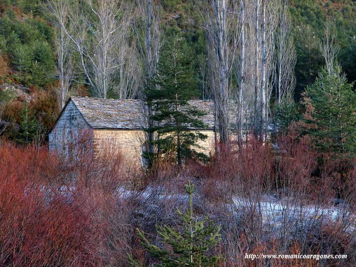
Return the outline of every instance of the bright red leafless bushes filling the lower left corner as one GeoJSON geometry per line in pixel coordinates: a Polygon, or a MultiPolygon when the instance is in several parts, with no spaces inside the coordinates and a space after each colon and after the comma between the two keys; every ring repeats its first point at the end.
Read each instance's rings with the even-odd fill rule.
{"type": "Polygon", "coordinates": [[[99,264],[102,230],[93,207],[83,205],[88,196],[79,190],[63,194],[48,151],[5,143],[0,155],[0,264],[99,264]]]}

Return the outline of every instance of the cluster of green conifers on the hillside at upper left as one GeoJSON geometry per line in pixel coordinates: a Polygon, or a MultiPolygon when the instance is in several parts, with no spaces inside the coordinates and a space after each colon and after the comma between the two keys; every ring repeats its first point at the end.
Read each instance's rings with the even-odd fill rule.
{"type": "MultiPolygon", "coordinates": [[[[24,1],[24,5],[34,14],[36,10],[29,6],[31,2],[34,3],[24,1]]],[[[55,58],[49,23],[31,16],[18,19],[14,11],[7,8],[0,17],[0,36],[0,52],[10,56],[10,67],[18,71],[22,84],[44,87],[53,81],[55,58]]]]}

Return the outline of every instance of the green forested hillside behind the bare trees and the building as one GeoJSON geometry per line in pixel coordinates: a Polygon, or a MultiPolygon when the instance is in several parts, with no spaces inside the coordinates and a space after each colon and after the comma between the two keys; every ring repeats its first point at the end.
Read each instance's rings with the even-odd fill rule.
{"type": "MultiPolygon", "coordinates": [[[[173,42],[177,36],[181,38],[182,47],[191,50],[194,74],[200,88],[200,93],[196,97],[211,98],[204,14],[199,5],[189,0],[162,0],[159,3],[160,27],[164,33],[162,35],[164,42],[173,42]]],[[[3,134],[7,137],[22,142],[21,122],[25,113],[28,113],[29,122],[41,125],[45,133],[61,109],[59,107],[61,102],[56,94],[59,81],[56,72],[58,59],[55,42],[58,33],[54,31],[53,14],[48,11],[47,2],[2,0],[0,5],[0,101],[4,107],[2,128],[6,128],[3,129],[3,134]]],[[[294,70],[296,100],[300,99],[301,93],[314,81],[324,65],[320,46],[327,21],[331,21],[336,27],[336,42],[340,48],[337,58],[343,72],[346,73],[349,82],[356,79],[355,5],[351,0],[290,1],[289,12],[292,19],[290,31],[296,52],[294,70]]],[[[133,35],[134,29],[128,27],[126,31],[127,35],[133,35]]],[[[128,45],[127,55],[124,57],[135,54],[134,50],[138,49],[133,46],[133,40],[127,42],[131,43],[122,44],[128,45]]],[[[80,70],[79,58],[76,55],[74,57],[72,66],[74,76],[70,81],[69,94],[66,98],[69,95],[96,96],[91,84],[87,82],[87,77],[80,70]]],[[[127,58],[124,58],[123,62],[124,64],[129,62],[129,68],[139,69],[137,62],[131,62],[127,58]]],[[[145,75],[142,71],[117,70],[107,97],[137,97],[136,93],[142,87],[140,83],[142,75],[145,75]],[[121,79],[120,71],[126,72],[125,80],[121,79]],[[121,88],[117,89],[118,86],[121,88]]],[[[237,77],[232,77],[231,82],[234,82],[234,79],[237,77]]],[[[42,138],[35,130],[29,132],[31,132],[29,139],[35,136],[42,138]]]]}

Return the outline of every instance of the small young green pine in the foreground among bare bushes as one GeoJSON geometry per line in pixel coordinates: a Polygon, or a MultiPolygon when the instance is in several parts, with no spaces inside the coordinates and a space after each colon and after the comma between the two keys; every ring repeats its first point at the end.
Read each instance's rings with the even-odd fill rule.
{"type": "MultiPolygon", "coordinates": [[[[161,261],[156,266],[161,267],[178,267],[178,266],[218,266],[219,258],[210,256],[209,250],[215,247],[220,241],[220,226],[216,227],[209,218],[205,217],[198,221],[193,216],[193,193],[194,185],[190,182],[185,186],[189,195],[188,210],[178,214],[184,224],[183,231],[177,231],[170,226],[156,226],[158,234],[165,244],[168,244],[172,251],[162,249],[152,245],[142,231],[137,229],[141,239],[141,244],[147,249],[151,256],[161,261]]],[[[138,260],[134,260],[129,255],[131,266],[143,266],[138,260]]]]}

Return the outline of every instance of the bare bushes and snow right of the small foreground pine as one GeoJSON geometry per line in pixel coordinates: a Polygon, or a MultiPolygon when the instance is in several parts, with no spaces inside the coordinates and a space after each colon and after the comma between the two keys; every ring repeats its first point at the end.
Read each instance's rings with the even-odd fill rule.
{"type": "MultiPolygon", "coordinates": [[[[213,212],[223,224],[225,266],[249,265],[245,253],[352,254],[354,161],[325,157],[315,153],[307,138],[292,135],[278,137],[273,149],[253,139],[243,150],[220,147],[205,168],[203,193],[215,202],[213,212]]],[[[318,264],[331,262],[354,263],[349,258],[318,264]]],[[[293,265],[268,259],[260,263],[293,265]]]]}

